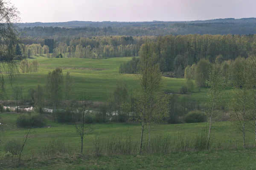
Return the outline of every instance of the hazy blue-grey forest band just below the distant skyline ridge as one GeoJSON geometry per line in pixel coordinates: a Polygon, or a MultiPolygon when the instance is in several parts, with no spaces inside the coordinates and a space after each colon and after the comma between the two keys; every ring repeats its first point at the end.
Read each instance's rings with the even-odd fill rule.
{"type": "Polygon", "coordinates": [[[108,35],[126,36],[159,36],[159,35],[186,35],[186,34],[256,34],[256,23],[171,23],[171,24],[151,24],[138,26],[86,26],[79,28],[65,27],[25,27],[21,31],[31,37],[92,37],[108,35]]]}

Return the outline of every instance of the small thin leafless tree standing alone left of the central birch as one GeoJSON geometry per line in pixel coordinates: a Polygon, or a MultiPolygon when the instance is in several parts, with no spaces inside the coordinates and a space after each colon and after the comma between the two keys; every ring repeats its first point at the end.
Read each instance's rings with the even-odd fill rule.
{"type": "Polygon", "coordinates": [[[81,98],[81,114],[79,114],[79,116],[77,116],[77,121],[75,122],[75,127],[76,127],[76,131],[80,136],[81,139],[81,153],[83,153],[83,144],[84,144],[84,138],[86,136],[87,133],[92,131],[92,127],[90,124],[85,125],[85,116],[86,113],[88,113],[89,111],[87,110],[91,103],[89,101],[87,101],[87,97],[86,97],[86,93],[83,92],[82,93],[82,98],[81,98]]]}

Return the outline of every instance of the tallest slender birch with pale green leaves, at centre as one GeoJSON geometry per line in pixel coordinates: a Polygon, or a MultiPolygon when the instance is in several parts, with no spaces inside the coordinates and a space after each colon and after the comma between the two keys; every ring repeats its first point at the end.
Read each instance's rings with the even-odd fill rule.
{"type": "Polygon", "coordinates": [[[137,94],[136,108],[138,111],[137,119],[140,121],[141,138],[140,138],[140,154],[142,153],[143,134],[146,119],[150,117],[152,111],[152,103],[156,92],[159,91],[160,82],[162,80],[159,64],[157,64],[157,56],[154,54],[151,45],[145,43],[140,49],[140,74],[138,74],[141,89],[137,94]]]}

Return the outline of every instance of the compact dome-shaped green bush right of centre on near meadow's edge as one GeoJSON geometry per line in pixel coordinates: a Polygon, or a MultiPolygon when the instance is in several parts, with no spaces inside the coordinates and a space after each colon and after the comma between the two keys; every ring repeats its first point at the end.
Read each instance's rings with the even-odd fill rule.
{"type": "Polygon", "coordinates": [[[184,121],[186,123],[200,123],[200,122],[206,122],[207,116],[202,111],[192,111],[189,112],[185,117],[184,121]]]}

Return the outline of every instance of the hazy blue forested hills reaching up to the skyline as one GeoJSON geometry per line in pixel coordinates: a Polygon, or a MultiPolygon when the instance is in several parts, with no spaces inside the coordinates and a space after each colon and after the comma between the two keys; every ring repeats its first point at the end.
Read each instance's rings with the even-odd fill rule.
{"type": "Polygon", "coordinates": [[[186,34],[256,34],[256,18],[215,19],[181,22],[91,22],[70,21],[65,23],[19,23],[25,36],[92,37],[107,35],[186,35],[186,34]]]}

